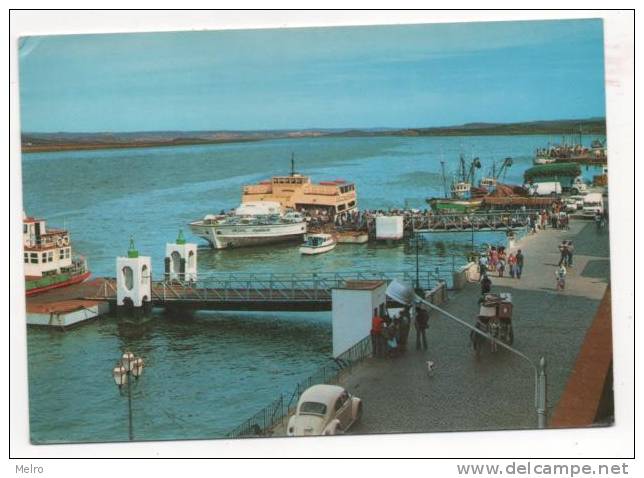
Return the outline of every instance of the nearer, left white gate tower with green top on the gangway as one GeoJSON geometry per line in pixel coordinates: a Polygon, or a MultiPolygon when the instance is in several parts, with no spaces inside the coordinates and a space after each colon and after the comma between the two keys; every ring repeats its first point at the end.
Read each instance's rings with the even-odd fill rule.
{"type": "Polygon", "coordinates": [[[150,257],[139,256],[130,238],[127,257],[116,258],[116,305],[129,311],[148,312],[152,305],[150,257]]]}

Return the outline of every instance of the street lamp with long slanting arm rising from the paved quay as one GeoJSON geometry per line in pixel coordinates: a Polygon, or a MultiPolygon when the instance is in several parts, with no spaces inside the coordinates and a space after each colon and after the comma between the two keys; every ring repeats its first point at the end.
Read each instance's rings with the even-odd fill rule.
{"type": "Polygon", "coordinates": [[[391,283],[387,287],[387,296],[391,297],[393,300],[403,305],[412,305],[414,303],[425,304],[427,307],[440,312],[441,314],[445,315],[446,317],[449,317],[452,320],[455,320],[456,322],[463,325],[464,327],[467,327],[473,332],[487,338],[488,340],[491,340],[497,343],[501,347],[509,350],[513,354],[518,355],[522,359],[526,360],[534,371],[534,406],[537,412],[537,427],[546,428],[546,359],[544,357],[541,357],[541,359],[539,360],[539,366],[537,368],[534,362],[530,360],[522,352],[519,352],[515,348],[510,347],[505,342],[497,341],[490,334],[486,334],[482,330],[474,327],[473,325],[468,324],[464,320],[459,319],[458,317],[450,314],[446,310],[441,309],[440,307],[437,307],[431,302],[424,300],[414,292],[414,288],[412,286],[408,284],[404,284],[396,279],[391,281],[391,283]]]}

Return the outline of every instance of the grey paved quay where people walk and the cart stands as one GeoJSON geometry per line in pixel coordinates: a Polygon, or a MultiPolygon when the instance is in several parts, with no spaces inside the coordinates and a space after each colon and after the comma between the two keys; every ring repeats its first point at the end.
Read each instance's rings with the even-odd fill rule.
{"type": "MultiPolygon", "coordinates": [[[[566,387],[586,333],[609,282],[608,230],[575,220],[570,230],[546,229],[525,237],[517,248],[525,255],[520,280],[491,274],[492,292],[512,293],[514,347],[534,363],[547,360],[548,416],[566,387]],[[575,244],[574,267],[566,290],[555,289],[558,245],[575,244]]],[[[479,284],[450,294],[444,308],[474,323],[479,284]]],[[[406,354],[370,358],[344,376],[341,384],[364,401],[364,415],[351,433],[393,433],[535,428],[534,375],[520,357],[484,347],[476,358],[469,331],[431,313],[428,351],[415,350],[410,331],[406,354]],[[428,375],[425,362],[436,369],[428,375]]]]}

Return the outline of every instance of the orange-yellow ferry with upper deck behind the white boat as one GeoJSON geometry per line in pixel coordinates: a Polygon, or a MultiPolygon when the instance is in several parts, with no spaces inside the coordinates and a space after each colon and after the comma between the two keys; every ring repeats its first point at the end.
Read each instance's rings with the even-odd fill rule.
{"type": "Polygon", "coordinates": [[[346,215],[358,208],[355,184],[344,179],[312,183],[309,176],[295,171],[293,157],[290,175],[273,176],[259,184],[244,186],[242,203],[258,201],[277,202],[283,208],[330,218],[346,215]]]}

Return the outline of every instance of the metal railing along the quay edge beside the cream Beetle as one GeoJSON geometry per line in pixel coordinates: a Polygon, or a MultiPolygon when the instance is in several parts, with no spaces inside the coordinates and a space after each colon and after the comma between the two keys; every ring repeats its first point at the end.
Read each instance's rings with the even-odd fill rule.
{"type": "Polygon", "coordinates": [[[281,393],[276,400],[228,432],[226,438],[270,436],[272,430],[278,424],[283,424],[284,419],[295,410],[300,396],[307,388],[323,383],[337,383],[341,372],[350,370],[358,362],[371,356],[371,350],[371,336],[367,336],[332,359],[329,365],[320,367],[314,374],[299,382],[291,393],[281,393]]]}

